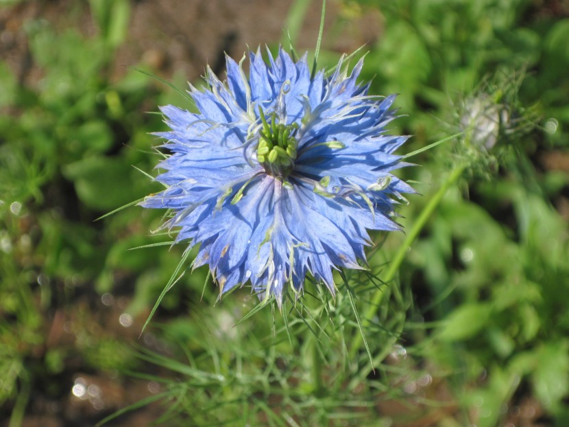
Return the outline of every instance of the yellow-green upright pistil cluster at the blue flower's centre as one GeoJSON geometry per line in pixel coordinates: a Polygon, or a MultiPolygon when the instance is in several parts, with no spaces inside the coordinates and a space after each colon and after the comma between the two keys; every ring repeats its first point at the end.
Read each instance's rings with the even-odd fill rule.
{"type": "Polygon", "coordinates": [[[298,124],[277,123],[276,113],[271,114],[269,123],[261,107],[259,115],[263,128],[259,130],[257,161],[265,167],[267,173],[273,176],[286,176],[297,155],[298,141],[294,135],[298,130],[298,124]]]}

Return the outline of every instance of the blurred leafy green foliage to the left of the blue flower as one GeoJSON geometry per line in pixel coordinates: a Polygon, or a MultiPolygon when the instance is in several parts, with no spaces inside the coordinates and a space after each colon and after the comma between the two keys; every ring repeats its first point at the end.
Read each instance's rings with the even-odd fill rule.
{"type": "MultiPolygon", "coordinates": [[[[160,126],[160,116],[146,111],[165,95],[134,69],[118,81],[110,76],[130,3],[91,6],[96,37],[56,30],[43,19],[24,23],[32,63],[41,71],[37,80],[21,84],[0,63],[0,404],[9,409],[16,402],[10,425],[21,421],[25,406],[18,403],[25,405],[29,384],[38,382],[34,371],[59,374],[77,355],[87,370],[132,362],[132,349],[108,331],[77,328],[71,342],[51,342],[62,328],[58,314],[82,324],[73,319],[89,316],[85,299],[97,301],[95,289],[101,295],[123,282],[132,283],[128,292],[136,286],[150,294],[134,307],[145,310],[154,298],[145,289],[160,288],[169,277],[162,268],[175,266],[163,251],[127,251],[152,242],[156,215],[133,209],[95,221],[158,189],[133,166],[152,170],[148,132],[160,126]]],[[[47,384],[40,389],[66,395],[67,382],[54,384],[55,391],[47,384]]]]}

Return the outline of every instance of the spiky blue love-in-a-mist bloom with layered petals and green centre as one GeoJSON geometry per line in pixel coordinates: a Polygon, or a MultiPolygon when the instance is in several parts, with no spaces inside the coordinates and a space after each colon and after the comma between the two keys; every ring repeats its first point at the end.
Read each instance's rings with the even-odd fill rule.
{"type": "Polygon", "coordinates": [[[161,108],[167,188],[141,205],[171,209],[164,227],[200,244],[193,266],[209,264],[221,292],[250,284],[280,305],[309,273],[334,293],[332,270],[361,268],[367,231],[399,229],[394,205],[413,192],[391,174],[407,139],[385,134],[395,97],[356,82],[362,61],[327,78],[306,55],[249,56],[248,78],[227,58],[226,82],[208,69],[207,89],[191,87],[198,113],[161,108]]]}

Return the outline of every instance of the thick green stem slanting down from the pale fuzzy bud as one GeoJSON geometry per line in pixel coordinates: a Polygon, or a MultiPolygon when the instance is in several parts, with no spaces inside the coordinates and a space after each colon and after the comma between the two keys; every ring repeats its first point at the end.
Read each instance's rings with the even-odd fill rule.
{"type": "MultiPolygon", "coordinates": [[[[387,268],[385,275],[382,277],[384,283],[388,284],[396,277],[396,274],[401,266],[401,263],[403,262],[405,255],[407,255],[407,252],[409,251],[409,249],[411,249],[411,245],[413,244],[413,242],[415,242],[415,239],[417,238],[417,236],[425,226],[426,222],[428,221],[428,218],[431,218],[433,211],[435,211],[436,207],[439,205],[439,203],[441,202],[443,196],[446,194],[448,189],[452,187],[452,185],[454,185],[461,177],[466,166],[467,166],[466,164],[461,164],[458,165],[454,170],[452,170],[452,172],[450,172],[450,174],[446,178],[446,181],[444,181],[443,185],[441,185],[441,187],[439,187],[439,190],[434,194],[434,196],[432,196],[428,200],[428,203],[421,211],[421,214],[417,217],[417,220],[415,220],[415,222],[413,223],[413,227],[411,227],[411,230],[405,236],[405,240],[399,246],[399,249],[395,254],[394,258],[391,259],[389,267],[387,268]]],[[[369,323],[374,318],[378,306],[381,303],[381,299],[383,299],[383,295],[384,295],[383,289],[376,290],[374,296],[372,297],[371,303],[368,306],[367,311],[365,312],[365,316],[363,316],[362,319],[363,325],[369,323]]],[[[354,341],[352,341],[352,347],[350,347],[350,360],[353,360],[354,356],[356,356],[356,352],[361,347],[362,338],[363,337],[361,334],[356,334],[356,336],[354,337],[354,341]]]]}

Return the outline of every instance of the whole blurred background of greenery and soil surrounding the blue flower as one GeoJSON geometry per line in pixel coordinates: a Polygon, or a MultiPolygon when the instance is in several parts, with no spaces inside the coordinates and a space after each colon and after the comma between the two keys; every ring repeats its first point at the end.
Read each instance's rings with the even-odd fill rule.
{"type": "MultiPolygon", "coordinates": [[[[184,247],[132,250],[169,240],[151,233],[161,212],[97,218],[160,189],[157,106],[192,108],[176,89],[207,64],[223,76],[224,53],[288,47],[284,28],[312,52],[321,7],[0,0],[0,425],[93,426],[129,407],[107,425],[569,425],[565,0],[328,1],[319,67],[363,46],[371,92],[399,94],[401,154],[472,132],[400,171],[420,193],[400,210],[409,229],[468,163],[381,285],[376,369],[350,348],[341,293],[316,319],[267,307],[236,326],[256,297],[216,303],[203,268],[141,334],[184,247]]],[[[404,234],[374,238],[381,278],[404,234]]],[[[365,308],[372,286],[350,279],[365,308]]]]}

